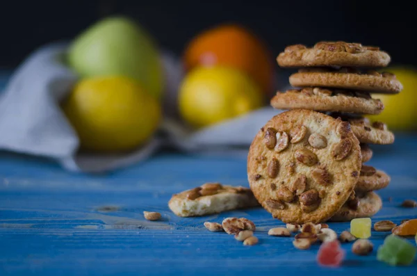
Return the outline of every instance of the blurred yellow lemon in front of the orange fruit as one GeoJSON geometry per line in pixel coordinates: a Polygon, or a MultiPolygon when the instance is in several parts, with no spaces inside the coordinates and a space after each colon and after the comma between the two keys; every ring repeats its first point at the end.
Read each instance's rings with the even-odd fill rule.
{"type": "Polygon", "coordinates": [[[205,127],[262,105],[261,89],[230,67],[197,67],[179,90],[179,111],[193,127],[205,127]]]}

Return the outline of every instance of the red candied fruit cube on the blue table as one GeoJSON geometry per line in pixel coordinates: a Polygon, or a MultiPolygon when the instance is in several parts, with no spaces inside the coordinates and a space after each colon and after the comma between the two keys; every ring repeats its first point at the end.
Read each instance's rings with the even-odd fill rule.
{"type": "Polygon", "coordinates": [[[342,249],[341,243],[329,241],[322,243],[317,253],[317,262],[321,266],[338,267],[345,259],[345,250],[342,249]]]}

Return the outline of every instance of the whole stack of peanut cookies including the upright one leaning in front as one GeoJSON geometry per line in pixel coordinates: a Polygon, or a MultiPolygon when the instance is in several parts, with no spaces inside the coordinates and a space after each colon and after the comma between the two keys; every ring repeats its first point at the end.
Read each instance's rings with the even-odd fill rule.
{"type": "Polygon", "coordinates": [[[373,193],[390,177],[368,165],[367,144],[391,144],[394,136],[379,114],[384,105],[372,93],[396,94],[402,84],[386,67],[391,58],[377,47],[319,42],[286,47],[277,61],[298,67],[292,89],[277,92],[271,105],[289,109],[259,131],[250,147],[247,171],[256,199],[287,223],[347,221],[373,216],[382,207],[373,193]]]}

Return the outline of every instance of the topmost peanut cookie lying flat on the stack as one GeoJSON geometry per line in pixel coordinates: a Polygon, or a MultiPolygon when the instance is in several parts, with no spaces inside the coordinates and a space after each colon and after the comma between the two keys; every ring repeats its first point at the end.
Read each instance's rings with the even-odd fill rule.
{"type": "Polygon", "coordinates": [[[318,42],[313,48],[302,44],[286,47],[277,57],[281,67],[352,66],[386,67],[391,57],[378,47],[359,43],[318,42]]]}

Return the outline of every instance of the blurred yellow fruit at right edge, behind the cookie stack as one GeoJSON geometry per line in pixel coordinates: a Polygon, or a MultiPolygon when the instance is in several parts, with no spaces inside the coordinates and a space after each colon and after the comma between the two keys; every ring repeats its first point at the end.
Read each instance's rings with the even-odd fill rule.
{"type": "Polygon", "coordinates": [[[391,67],[384,71],[394,73],[404,86],[404,90],[398,95],[375,95],[376,99],[382,100],[385,108],[381,114],[369,116],[370,120],[385,122],[389,129],[417,129],[417,69],[391,67]]]}

